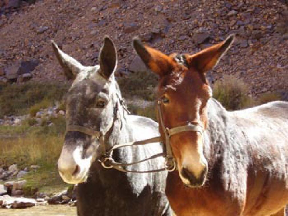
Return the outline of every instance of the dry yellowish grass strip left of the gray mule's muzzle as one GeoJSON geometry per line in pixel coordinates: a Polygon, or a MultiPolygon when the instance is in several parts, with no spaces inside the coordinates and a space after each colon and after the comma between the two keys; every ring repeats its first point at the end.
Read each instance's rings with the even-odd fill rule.
{"type": "Polygon", "coordinates": [[[55,165],[62,149],[65,119],[51,119],[52,126],[0,126],[0,167],[18,164],[55,165]],[[15,130],[13,130],[15,129],[15,130]],[[9,138],[10,136],[10,138],[9,138]]]}

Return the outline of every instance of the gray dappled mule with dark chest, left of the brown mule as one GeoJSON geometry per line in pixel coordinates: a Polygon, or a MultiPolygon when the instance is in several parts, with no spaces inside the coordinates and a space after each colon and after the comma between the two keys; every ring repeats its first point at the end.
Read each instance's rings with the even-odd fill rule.
{"type": "MultiPolygon", "coordinates": [[[[99,64],[83,66],[62,52],[52,41],[56,56],[68,79],[66,124],[100,131],[107,149],[116,144],[158,136],[158,124],[142,116],[128,115],[114,77],[117,54],[105,37],[99,64]]],[[[161,152],[159,143],[119,148],[115,161],[131,163],[161,152]]],[[[79,131],[67,131],[58,160],[62,179],[78,184],[77,213],[81,216],[172,215],[166,195],[167,172],[131,174],[104,169],[96,160],[99,139],[79,131]]],[[[164,158],[133,165],[132,170],[159,169],[164,158]]]]}

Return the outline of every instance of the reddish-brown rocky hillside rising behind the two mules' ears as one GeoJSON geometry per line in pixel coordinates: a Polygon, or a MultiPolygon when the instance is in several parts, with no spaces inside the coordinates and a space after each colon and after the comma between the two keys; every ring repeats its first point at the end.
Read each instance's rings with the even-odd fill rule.
{"type": "Polygon", "coordinates": [[[109,35],[118,48],[121,75],[139,70],[134,36],[165,53],[194,53],[235,33],[236,42],[211,79],[235,74],[253,95],[287,95],[285,0],[0,0],[0,7],[0,82],[65,81],[51,39],[89,65],[97,63],[103,36],[109,35]]]}

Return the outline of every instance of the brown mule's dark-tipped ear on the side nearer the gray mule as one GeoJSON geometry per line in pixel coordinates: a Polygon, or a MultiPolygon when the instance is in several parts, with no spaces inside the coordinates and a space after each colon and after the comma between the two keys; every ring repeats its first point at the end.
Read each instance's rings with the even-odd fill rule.
{"type": "Polygon", "coordinates": [[[146,67],[154,73],[161,77],[171,72],[173,67],[172,58],[156,49],[143,45],[138,37],[133,38],[132,46],[146,67]]]}

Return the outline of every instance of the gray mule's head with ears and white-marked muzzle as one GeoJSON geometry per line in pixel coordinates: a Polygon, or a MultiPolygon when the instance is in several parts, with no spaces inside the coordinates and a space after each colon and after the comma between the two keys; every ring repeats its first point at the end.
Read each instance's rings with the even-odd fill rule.
{"type": "MultiPolygon", "coordinates": [[[[66,125],[79,125],[103,134],[115,120],[115,91],[118,85],[113,72],[117,54],[111,39],[105,37],[99,55],[100,65],[83,66],[61,51],[52,41],[56,56],[68,79],[74,79],[67,94],[66,125]]],[[[90,165],[99,155],[97,137],[78,131],[67,131],[58,160],[62,179],[71,184],[86,181],[90,165]]]]}

